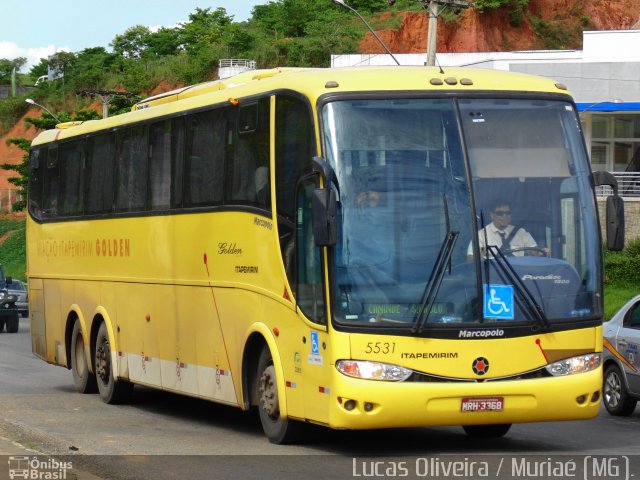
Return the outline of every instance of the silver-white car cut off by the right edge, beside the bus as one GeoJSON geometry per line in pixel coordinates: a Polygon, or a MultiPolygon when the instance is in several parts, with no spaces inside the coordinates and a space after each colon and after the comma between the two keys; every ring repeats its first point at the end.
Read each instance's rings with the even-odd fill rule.
{"type": "Polygon", "coordinates": [[[611,415],[631,415],[640,400],[640,295],[603,327],[602,401],[611,415]]]}

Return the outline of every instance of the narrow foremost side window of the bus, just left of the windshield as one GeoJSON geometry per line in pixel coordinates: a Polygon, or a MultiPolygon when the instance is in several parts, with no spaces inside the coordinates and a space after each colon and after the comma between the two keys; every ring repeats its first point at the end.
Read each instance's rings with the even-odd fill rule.
{"type": "Polygon", "coordinates": [[[322,261],[320,247],[313,238],[311,197],[317,187],[316,176],[308,177],[298,185],[298,220],[296,249],[298,266],[297,300],[302,312],[317,323],[326,323],[324,289],[322,288],[322,261]]]}

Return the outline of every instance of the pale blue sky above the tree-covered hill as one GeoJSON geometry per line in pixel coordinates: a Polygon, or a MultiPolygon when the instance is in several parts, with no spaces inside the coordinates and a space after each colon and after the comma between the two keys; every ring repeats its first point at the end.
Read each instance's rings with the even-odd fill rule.
{"type": "Polygon", "coordinates": [[[61,50],[105,47],[129,27],[173,26],[196,8],[222,7],[234,21],[269,0],[0,0],[0,58],[27,58],[22,73],[61,50]]]}

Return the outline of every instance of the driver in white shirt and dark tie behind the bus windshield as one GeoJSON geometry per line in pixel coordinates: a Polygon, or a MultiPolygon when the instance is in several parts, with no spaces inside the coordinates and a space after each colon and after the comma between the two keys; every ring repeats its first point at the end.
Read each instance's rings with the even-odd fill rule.
{"type": "MultiPolygon", "coordinates": [[[[523,256],[525,253],[532,255],[545,255],[549,253],[547,248],[539,248],[531,234],[522,227],[511,225],[511,206],[509,202],[496,200],[491,209],[491,223],[478,232],[480,241],[480,253],[486,255],[486,243],[495,245],[506,256],[523,256]],[[535,248],[527,252],[527,248],[535,248]],[[519,250],[520,251],[513,251],[519,250]],[[544,252],[544,253],[543,253],[544,252]]],[[[473,257],[473,244],[469,243],[467,256],[473,257]]]]}

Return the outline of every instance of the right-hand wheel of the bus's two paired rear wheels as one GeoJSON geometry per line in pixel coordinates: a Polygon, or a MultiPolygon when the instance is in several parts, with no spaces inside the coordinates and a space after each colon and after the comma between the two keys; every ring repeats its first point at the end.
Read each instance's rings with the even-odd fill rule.
{"type": "Polygon", "coordinates": [[[117,381],[113,376],[111,366],[111,344],[107,325],[102,322],[98,329],[95,348],[95,371],[98,392],[105,403],[114,405],[127,403],[131,400],[133,384],[126,381],[117,381]]]}

